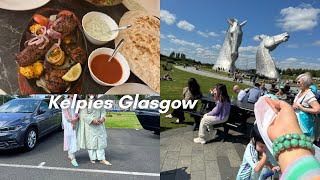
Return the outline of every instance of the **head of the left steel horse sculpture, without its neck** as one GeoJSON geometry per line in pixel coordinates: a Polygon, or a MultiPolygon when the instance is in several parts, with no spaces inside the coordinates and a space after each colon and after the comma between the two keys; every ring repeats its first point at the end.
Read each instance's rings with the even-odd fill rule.
{"type": "Polygon", "coordinates": [[[231,47],[231,59],[235,61],[239,56],[238,48],[242,41],[241,27],[244,26],[247,23],[247,21],[243,21],[240,24],[238,23],[238,20],[233,18],[227,19],[227,21],[230,24],[227,36],[229,36],[229,43],[231,47]]]}

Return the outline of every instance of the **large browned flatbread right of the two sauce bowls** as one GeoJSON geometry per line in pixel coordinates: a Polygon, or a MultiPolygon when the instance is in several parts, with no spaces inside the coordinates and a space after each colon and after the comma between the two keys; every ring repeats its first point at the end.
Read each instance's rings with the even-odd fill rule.
{"type": "Polygon", "coordinates": [[[131,71],[154,91],[160,93],[160,20],[142,11],[129,11],[119,26],[132,24],[115,39],[125,43],[119,50],[131,71]]]}

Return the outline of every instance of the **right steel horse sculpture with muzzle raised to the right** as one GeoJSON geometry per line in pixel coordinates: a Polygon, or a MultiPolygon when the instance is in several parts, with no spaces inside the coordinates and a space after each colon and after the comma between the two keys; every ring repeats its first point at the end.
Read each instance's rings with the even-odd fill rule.
{"type": "Polygon", "coordinates": [[[259,37],[261,43],[256,54],[256,70],[258,75],[270,79],[278,79],[280,77],[279,72],[276,69],[276,65],[270,55],[270,51],[276,49],[282,42],[288,41],[289,37],[288,33],[282,33],[271,37],[268,36],[266,38],[259,37]]]}

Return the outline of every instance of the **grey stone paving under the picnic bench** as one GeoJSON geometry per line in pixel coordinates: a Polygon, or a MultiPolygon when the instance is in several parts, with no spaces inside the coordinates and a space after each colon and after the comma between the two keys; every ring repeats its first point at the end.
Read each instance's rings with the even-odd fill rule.
{"type": "Polygon", "coordinates": [[[161,179],[235,179],[249,137],[230,130],[225,142],[218,137],[202,145],[193,142],[197,134],[198,131],[192,131],[191,126],[161,132],[161,179]]]}

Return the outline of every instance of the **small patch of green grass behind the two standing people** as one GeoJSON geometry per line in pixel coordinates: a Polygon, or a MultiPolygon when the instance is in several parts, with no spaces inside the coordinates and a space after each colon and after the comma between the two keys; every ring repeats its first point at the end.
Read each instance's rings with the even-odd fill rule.
{"type": "Polygon", "coordinates": [[[112,117],[106,117],[106,128],[142,129],[134,112],[112,112],[112,117]]]}

